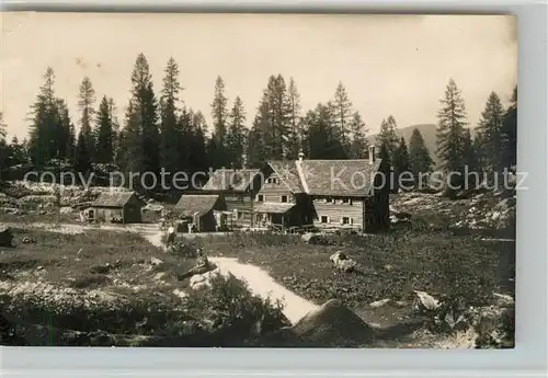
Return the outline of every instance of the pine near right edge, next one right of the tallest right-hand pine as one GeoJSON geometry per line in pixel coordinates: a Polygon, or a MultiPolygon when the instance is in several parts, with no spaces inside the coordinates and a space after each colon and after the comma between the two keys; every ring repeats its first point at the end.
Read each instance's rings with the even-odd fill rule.
{"type": "Polygon", "coordinates": [[[481,113],[478,133],[481,135],[483,160],[486,168],[500,172],[502,162],[502,127],[504,122],[504,107],[496,93],[491,92],[481,113]]]}

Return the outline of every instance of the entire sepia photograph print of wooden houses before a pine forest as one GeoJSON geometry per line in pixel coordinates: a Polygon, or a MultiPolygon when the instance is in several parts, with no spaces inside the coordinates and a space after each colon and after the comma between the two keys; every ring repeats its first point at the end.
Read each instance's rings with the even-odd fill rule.
{"type": "Polygon", "coordinates": [[[0,345],[514,347],[516,18],[1,18],[0,345]]]}

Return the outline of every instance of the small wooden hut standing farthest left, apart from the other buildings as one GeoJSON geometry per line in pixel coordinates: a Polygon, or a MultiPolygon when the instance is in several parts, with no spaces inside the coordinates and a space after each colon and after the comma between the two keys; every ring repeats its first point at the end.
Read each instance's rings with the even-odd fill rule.
{"type": "Polygon", "coordinates": [[[105,192],[85,210],[89,220],[111,224],[139,224],[145,202],[135,192],[105,192]]]}

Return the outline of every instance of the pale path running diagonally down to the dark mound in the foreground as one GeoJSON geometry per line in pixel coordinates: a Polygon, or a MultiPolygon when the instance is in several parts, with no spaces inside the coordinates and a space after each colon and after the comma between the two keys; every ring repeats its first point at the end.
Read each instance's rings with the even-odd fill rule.
{"type": "Polygon", "coordinates": [[[279,299],[284,302],[284,314],[292,323],[296,323],[309,311],[318,308],[315,303],[297,296],[272,278],[259,266],[242,264],[237,259],[209,257],[220,271],[230,272],[237,278],[248,283],[253,294],[262,298],[279,299]]]}

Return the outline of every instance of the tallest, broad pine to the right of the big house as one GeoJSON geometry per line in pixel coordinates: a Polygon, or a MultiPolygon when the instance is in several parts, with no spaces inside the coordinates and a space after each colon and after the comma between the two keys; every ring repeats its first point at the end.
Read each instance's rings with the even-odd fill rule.
{"type": "MultiPolygon", "coordinates": [[[[437,154],[446,172],[463,173],[464,161],[464,133],[467,126],[465,101],[453,79],[449,79],[445,96],[441,101],[442,108],[437,114],[437,154]]],[[[458,175],[452,175],[453,187],[461,184],[458,175]]]]}

